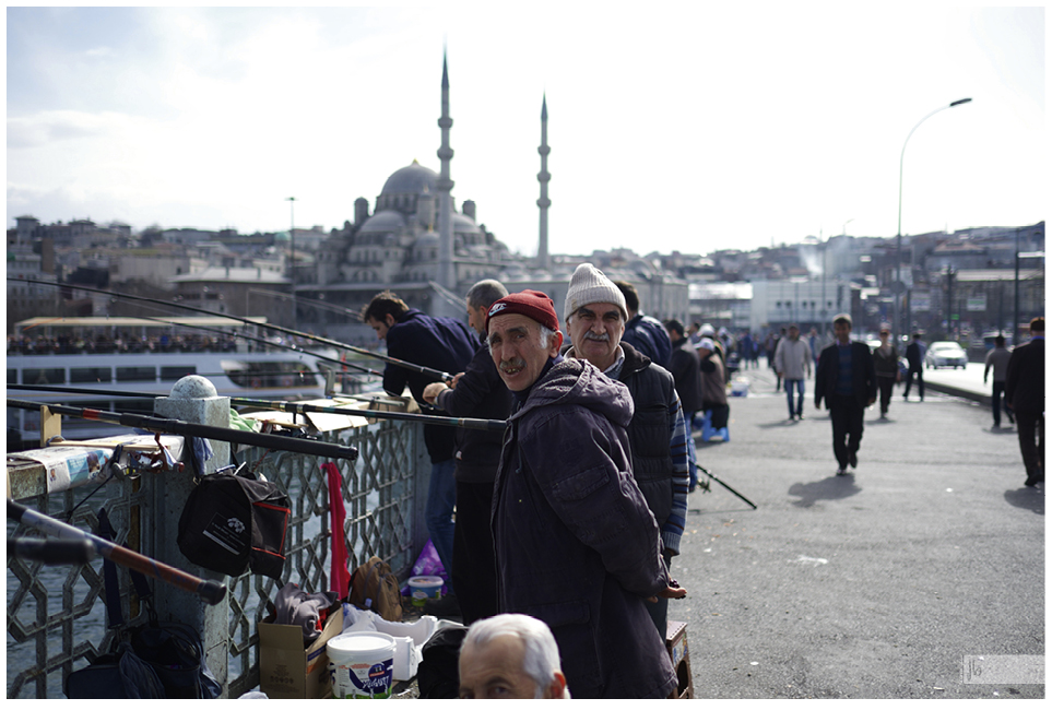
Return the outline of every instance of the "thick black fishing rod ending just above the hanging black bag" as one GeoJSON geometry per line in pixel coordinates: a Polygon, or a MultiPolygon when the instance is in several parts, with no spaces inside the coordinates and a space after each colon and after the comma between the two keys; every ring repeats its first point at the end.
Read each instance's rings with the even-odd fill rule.
{"type": "MultiPolygon", "coordinates": [[[[139,397],[142,397],[140,393],[139,397]]],[[[307,455],[324,457],[327,459],[347,459],[354,461],[358,458],[358,450],[354,447],[345,447],[339,443],[327,443],[311,439],[297,439],[274,434],[258,434],[256,431],[243,431],[240,429],[228,429],[221,426],[209,426],[205,424],[194,424],[192,422],[181,422],[179,419],[167,419],[157,416],[146,416],[133,414],[131,412],[107,412],[104,410],[93,410],[88,407],[67,406],[64,404],[40,404],[39,402],[27,402],[25,400],[12,400],[8,398],[8,406],[20,410],[39,410],[47,406],[55,414],[73,416],[81,419],[92,419],[119,424],[146,431],[158,434],[176,434],[179,436],[196,436],[203,439],[215,439],[217,441],[228,441],[231,443],[241,443],[250,447],[260,447],[275,451],[292,451],[307,455]]]]}

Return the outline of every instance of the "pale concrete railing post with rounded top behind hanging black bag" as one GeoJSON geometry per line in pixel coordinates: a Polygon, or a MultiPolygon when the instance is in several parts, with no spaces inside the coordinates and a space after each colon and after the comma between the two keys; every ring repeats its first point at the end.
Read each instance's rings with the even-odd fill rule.
{"type": "MultiPolygon", "coordinates": [[[[158,398],[154,413],[182,422],[228,427],[231,423],[231,399],[217,397],[215,387],[205,378],[197,375],[184,377],[172,388],[170,397],[158,398]]],[[[231,460],[231,445],[226,441],[210,439],[213,455],[209,461],[200,461],[202,474],[214,473],[231,460]]],[[[196,575],[202,579],[213,579],[229,584],[229,577],[213,572],[194,565],[179,551],[176,542],[179,533],[179,518],[190,492],[193,490],[193,472],[189,465],[189,454],[184,453],[187,462],[182,474],[157,476],[154,486],[154,551],[157,558],[196,575]]],[[[149,534],[149,533],[146,533],[149,534]]],[[[227,665],[229,660],[229,597],[210,606],[197,595],[184,592],[168,584],[154,584],[155,607],[161,620],[182,622],[198,629],[204,644],[209,670],[223,685],[223,696],[228,694],[227,665]]]]}

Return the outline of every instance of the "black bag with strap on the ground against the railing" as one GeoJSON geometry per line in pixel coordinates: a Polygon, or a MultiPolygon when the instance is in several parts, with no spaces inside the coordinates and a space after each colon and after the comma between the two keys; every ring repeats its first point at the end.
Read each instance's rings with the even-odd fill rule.
{"type": "MultiPolygon", "coordinates": [[[[99,536],[113,539],[106,510],[99,510],[99,536]]],[[[178,622],[162,623],[153,608],[153,592],[146,578],[130,570],[135,593],[145,605],[149,620],[125,628],[117,584],[117,567],[105,560],[106,615],[114,629],[108,653],[66,678],[63,690],[71,699],[179,698],[212,699],[222,686],[204,662],[204,647],[198,632],[178,622]]]]}

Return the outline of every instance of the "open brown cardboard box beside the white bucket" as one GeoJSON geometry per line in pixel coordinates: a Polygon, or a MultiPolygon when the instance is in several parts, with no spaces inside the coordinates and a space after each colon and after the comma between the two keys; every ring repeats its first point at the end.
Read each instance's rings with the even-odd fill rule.
{"type": "Polygon", "coordinates": [[[343,631],[343,608],[326,620],[326,628],[304,649],[299,626],[259,625],[259,689],[267,697],[300,700],[332,697],[329,676],[329,639],[343,631]]]}

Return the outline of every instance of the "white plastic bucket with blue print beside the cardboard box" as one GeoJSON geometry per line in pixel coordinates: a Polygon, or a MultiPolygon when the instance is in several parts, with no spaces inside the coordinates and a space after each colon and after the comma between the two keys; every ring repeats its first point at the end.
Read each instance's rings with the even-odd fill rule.
{"type": "Polygon", "coordinates": [[[333,698],[390,698],[394,637],[353,631],[329,640],[333,698]]]}

